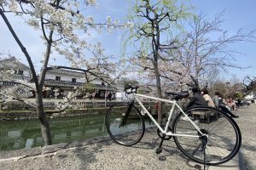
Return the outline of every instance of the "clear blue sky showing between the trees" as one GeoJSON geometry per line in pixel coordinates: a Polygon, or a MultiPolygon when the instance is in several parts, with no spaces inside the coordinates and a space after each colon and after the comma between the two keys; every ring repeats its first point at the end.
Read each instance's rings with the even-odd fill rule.
{"type": "MultiPolygon", "coordinates": [[[[224,24],[221,28],[230,33],[236,33],[239,29],[243,29],[245,32],[256,29],[255,0],[191,0],[190,2],[194,6],[196,14],[202,12],[207,14],[209,19],[212,19],[215,14],[219,14],[224,10],[224,24]]],[[[129,7],[131,0],[97,0],[97,3],[99,3],[99,6],[86,10],[86,14],[93,15],[95,20],[99,22],[105,21],[108,15],[113,19],[119,19],[120,22],[122,22],[125,20],[125,14],[127,13],[127,8],[129,7]]],[[[7,14],[7,17],[9,18],[11,25],[15,28],[15,31],[17,31],[21,42],[26,46],[28,53],[31,54],[36,69],[39,70],[44,45],[38,36],[38,31],[34,31],[31,27],[26,26],[20,18],[17,19],[11,14],[7,14]]],[[[103,31],[102,33],[91,31],[91,36],[87,39],[90,42],[102,42],[102,47],[107,54],[119,57],[121,55],[121,37],[124,31],[127,30],[113,30],[111,32],[103,31]]],[[[256,43],[239,42],[232,44],[230,48],[236,49],[236,51],[241,53],[235,56],[236,64],[249,68],[242,71],[230,69],[229,73],[224,73],[224,75],[228,78],[232,77],[232,75],[236,75],[236,77],[240,79],[247,75],[256,76],[256,43]]],[[[19,46],[11,36],[2,18],[0,18],[0,53],[14,55],[21,59],[24,64],[27,63],[24,54],[22,54],[19,46]]],[[[57,60],[50,60],[50,65],[61,64],[68,66],[68,62],[65,61],[65,59],[60,59],[59,56],[55,56],[55,58],[57,58],[57,60]]]]}

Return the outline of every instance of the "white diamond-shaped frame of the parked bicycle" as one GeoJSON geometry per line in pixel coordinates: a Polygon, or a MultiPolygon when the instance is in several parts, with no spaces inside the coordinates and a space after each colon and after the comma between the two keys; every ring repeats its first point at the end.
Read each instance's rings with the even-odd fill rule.
{"type": "MultiPolygon", "coordinates": [[[[158,127],[160,129],[160,132],[163,134],[166,134],[167,136],[183,136],[183,137],[193,137],[193,138],[198,138],[200,137],[199,135],[190,135],[190,134],[179,134],[179,133],[172,133],[172,132],[167,132],[169,124],[171,122],[171,118],[172,118],[172,113],[174,111],[174,108],[177,107],[179,109],[179,111],[181,111],[183,113],[183,116],[185,116],[185,119],[188,120],[194,127],[195,129],[201,134],[201,135],[206,135],[201,133],[200,128],[195,124],[195,122],[193,122],[189,116],[187,116],[187,114],[184,113],[183,109],[177,105],[177,101],[176,100],[167,100],[167,99],[160,99],[160,98],[154,98],[154,97],[150,97],[150,96],[146,96],[143,94],[134,94],[134,99],[137,101],[137,103],[143,108],[143,111],[146,112],[146,114],[148,115],[148,117],[152,120],[152,122],[154,122],[155,126],[158,127]],[[146,99],[153,99],[156,101],[162,101],[162,102],[166,102],[166,103],[170,103],[172,104],[172,108],[169,112],[169,116],[168,116],[168,120],[166,122],[166,127],[165,129],[163,129],[162,127],[160,127],[160,125],[158,124],[158,122],[156,122],[154,120],[154,117],[151,116],[151,114],[148,112],[148,110],[145,108],[145,106],[143,105],[143,103],[138,99],[138,97],[142,97],[142,98],[146,98],[146,99]]],[[[188,133],[194,133],[194,132],[188,132],[188,133]]]]}

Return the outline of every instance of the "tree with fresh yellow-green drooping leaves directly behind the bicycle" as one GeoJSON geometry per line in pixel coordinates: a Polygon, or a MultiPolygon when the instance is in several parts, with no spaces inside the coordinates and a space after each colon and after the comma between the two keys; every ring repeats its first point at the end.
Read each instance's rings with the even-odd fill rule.
{"type": "MultiPolygon", "coordinates": [[[[166,71],[166,66],[169,67],[170,63],[175,63],[173,67],[179,65],[165,52],[167,49],[177,48],[175,37],[181,27],[179,21],[189,16],[189,7],[186,5],[186,1],[137,0],[128,14],[128,20],[134,26],[128,37],[128,42],[131,43],[127,42],[126,45],[133,44],[133,48],[136,49],[130,60],[138,71],[147,77],[153,77],[159,98],[163,95],[161,77],[170,78],[166,77],[170,74],[166,71]]],[[[158,122],[161,121],[160,109],[158,122]]]]}

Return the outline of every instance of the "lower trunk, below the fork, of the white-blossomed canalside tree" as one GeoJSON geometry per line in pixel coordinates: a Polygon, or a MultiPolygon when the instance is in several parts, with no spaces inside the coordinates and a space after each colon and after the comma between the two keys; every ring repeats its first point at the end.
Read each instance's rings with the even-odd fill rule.
{"type": "Polygon", "coordinates": [[[43,103],[43,93],[42,88],[40,91],[36,92],[36,103],[37,103],[37,112],[38,112],[38,118],[41,123],[41,133],[42,137],[44,139],[44,145],[52,144],[51,138],[50,138],[50,130],[49,130],[49,122],[46,118],[45,112],[44,112],[44,103],[43,103]]]}

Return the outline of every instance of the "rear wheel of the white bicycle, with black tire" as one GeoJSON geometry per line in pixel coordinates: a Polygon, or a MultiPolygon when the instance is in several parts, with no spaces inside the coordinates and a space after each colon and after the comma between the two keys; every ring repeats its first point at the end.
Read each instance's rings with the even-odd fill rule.
{"type": "MultiPolygon", "coordinates": [[[[241,132],[236,122],[224,111],[208,106],[196,106],[189,108],[185,113],[191,118],[202,133],[207,133],[208,140],[204,152],[201,138],[177,137],[173,139],[179,150],[191,160],[206,165],[218,165],[230,161],[241,147],[241,132]],[[204,113],[205,115],[203,115],[204,113]],[[202,114],[200,116],[200,114],[202,114]],[[213,116],[208,122],[202,116],[213,116]]],[[[191,122],[180,113],[173,122],[173,133],[198,134],[191,122]],[[188,131],[189,130],[189,131],[188,131]]]]}

